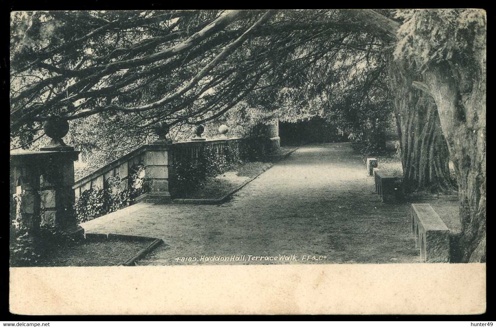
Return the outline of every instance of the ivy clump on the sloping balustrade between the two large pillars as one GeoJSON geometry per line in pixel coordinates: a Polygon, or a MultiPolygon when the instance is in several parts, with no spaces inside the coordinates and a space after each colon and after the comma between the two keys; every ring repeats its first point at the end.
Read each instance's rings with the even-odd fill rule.
{"type": "Polygon", "coordinates": [[[81,193],[74,210],[77,220],[85,222],[128,206],[136,197],[148,192],[149,183],[144,177],[145,167],[136,164],[129,168],[127,188],[121,190],[118,176],[104,181],[103,189],[89,189],[81,193]]]}

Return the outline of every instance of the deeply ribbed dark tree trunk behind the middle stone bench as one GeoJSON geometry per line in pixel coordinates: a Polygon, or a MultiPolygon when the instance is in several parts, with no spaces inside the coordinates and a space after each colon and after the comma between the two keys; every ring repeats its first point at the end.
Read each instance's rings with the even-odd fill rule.
{"type": "Polygon", "coordinates": [[[434,100],[413,88],[418,78],[406,60],[389,60],[389,86],[400,136],[403,189],[452,194],[456,183],[449,174],[449,152],[434,100]]]}

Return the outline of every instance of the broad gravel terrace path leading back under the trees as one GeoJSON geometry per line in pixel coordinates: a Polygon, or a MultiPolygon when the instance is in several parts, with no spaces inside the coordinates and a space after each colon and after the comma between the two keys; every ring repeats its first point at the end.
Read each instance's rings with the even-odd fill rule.
{"type": "Polygon", "coordinates": [[[349,143],[315,144],[275,164],[227,203],[138,203],[82,226],[163,239],[165,245],[139,264],[418,262],[410,205],[381,203],[373,190],[349,143]]]}

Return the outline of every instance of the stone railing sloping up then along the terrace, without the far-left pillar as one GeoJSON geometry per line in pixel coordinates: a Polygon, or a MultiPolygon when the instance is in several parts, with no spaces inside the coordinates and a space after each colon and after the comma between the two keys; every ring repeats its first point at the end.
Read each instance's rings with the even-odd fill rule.
{"type": "MultiPolygon", "coordinates": [[[[219,129],[224,135],[228,130],[219,129]],[[221,131],[222,130],[222,131],[221,131]]],[[[88,176],[76,181],[72,187],[75,197],[79,197],[84,191],[93,189],[103,189],[104,183],[110,177],[118,176],[121,179],[121,190],[128,188],[127,176],[130,168],[136,164],[143,165],[144,178],[150,181],[150,192],[140,196],[137,200],[163,202],[171,198],[171,177],[174,174],[173,164],[182,159],[195,158],[204,151],[205,147],[210,147],[213,153],[222,153],[227,144],[239,146],[243,142],[254,142],[260,152],[271,152],[279,147],[279,138],[273,139],[268,135],[251,136],[244,138],[226,138],[205,140],[201,138],[203,129],[197,132],[191,141],[171,143],[159,139],[153,144],[145,144],[136,150],[124,155],[88,176]]]]}

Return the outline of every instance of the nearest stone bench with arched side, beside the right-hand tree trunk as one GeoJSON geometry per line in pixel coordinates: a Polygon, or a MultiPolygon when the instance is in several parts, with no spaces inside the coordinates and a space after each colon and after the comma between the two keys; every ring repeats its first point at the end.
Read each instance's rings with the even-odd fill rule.
{"type": "Polygon", "coordinates": [[[449,262],[449,229],[429,203],[412,203],[412,236],[424,262],[449,262]]]}

